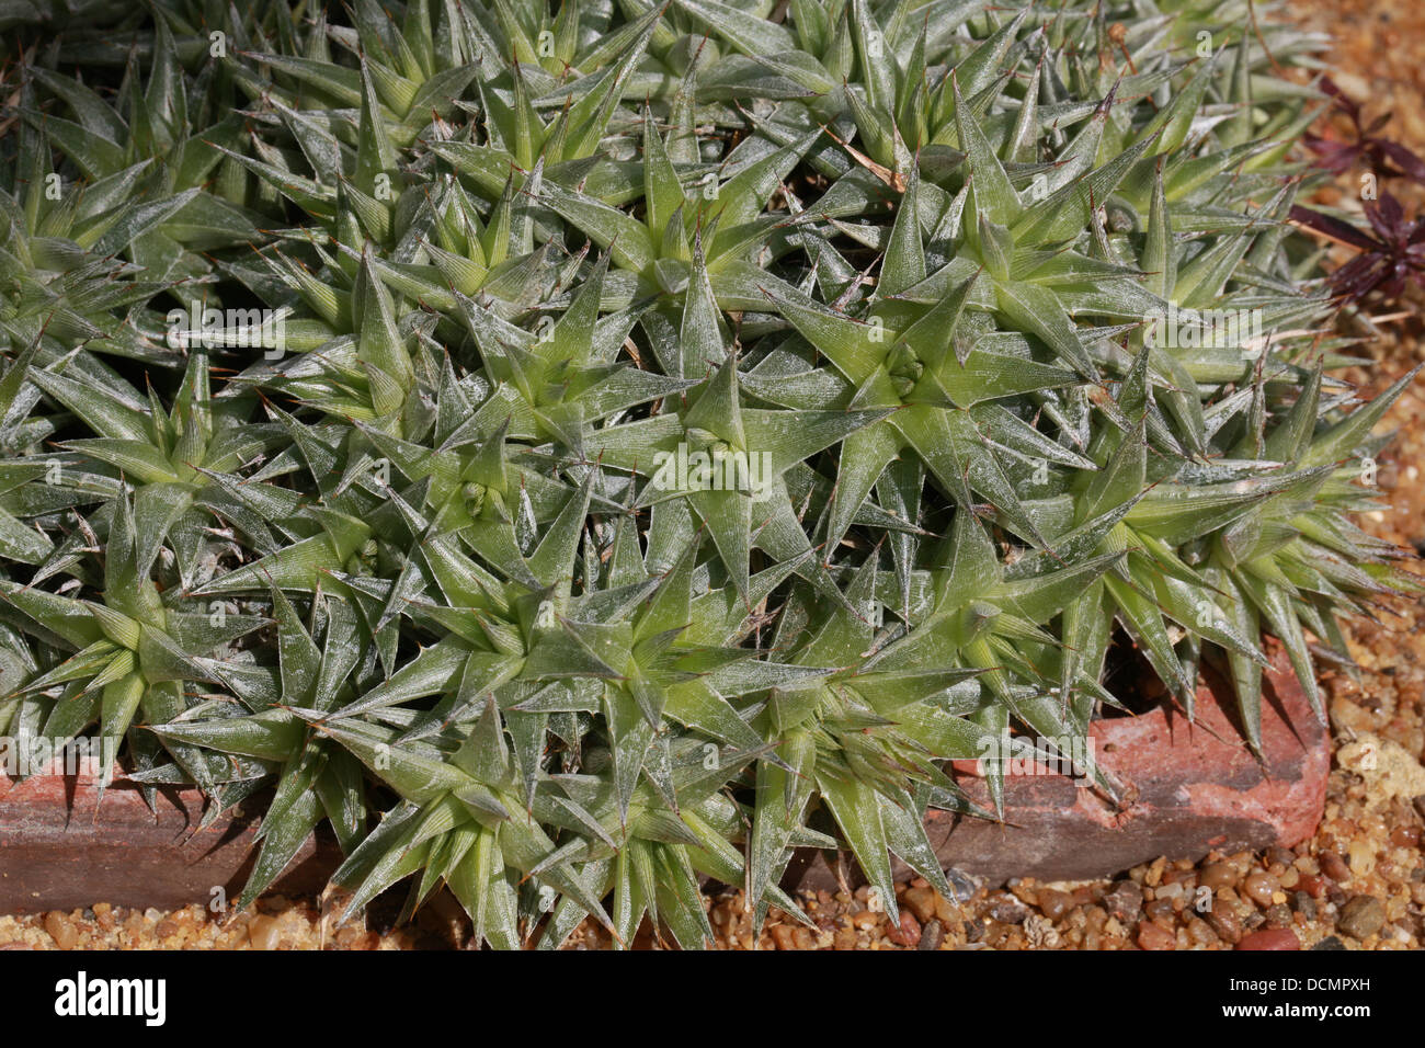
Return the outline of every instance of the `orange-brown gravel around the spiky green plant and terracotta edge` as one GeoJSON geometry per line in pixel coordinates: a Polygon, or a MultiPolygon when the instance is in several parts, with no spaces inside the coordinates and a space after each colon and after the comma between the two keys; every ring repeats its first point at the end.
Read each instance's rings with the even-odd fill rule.
{"type": "MultiPolygon", "coordinates": [[[[1321,0],[1297,10],[1334,33],[1332,77],[1365,101],[1367,115],[1394,113],[1385,134],[1425,155],[1425,7],[1406,0],[1321,0]]],[[[1354,173],[1342,177],[1351,187],[1354,173]]],[[[1425,207],[1425,187],[1388,188],[1406,207],[1425,207]]],[[[1358,205],[1348,192],[1322,202],[1358,205]]],[[[1345,376],[1375,392],[1425,359],[1419,308],[1382,322],[1361,352],[1369,368],[1345,376]]],[[[1362,522],[1374,535],[1425,550],[1425,385],[1387,415],[1398,429],[1377,482],[1391,506],[1362,522]]],[[[1418,562],[1409,570],[1425,573],[1418,562]]],[[[1425,609],[1387,602],[1394,615],[1348,627],[1358,679],[1321,674],[1337,741],[1325,816],[1312,840],[1263,854],[1208,854],[1201,863],[1159,858],[1112,881],[1036,884],[1002,890],[955,883],[955,898],[925,881],[898,888],[892,925],[868,907],[865,888],[814,893],[802,903],[815,930],[772,914],[754,942],[740,891],[708,897],[721,948],[762,950],[1411,950],[1425,944],[1425,609]],[[1206,887],[1207,893],[1198,893],[1206,887]]],[[[460,947],[467,930],[453,900],[422,910],[416,924],[390,928],[378,917],[338,927],[331,900],[259,900],[249,914],[200,907],[138,911],[97,903],[87,910],[0,918],[0,950],[410,950],[460,947]]],[[[574,948],[606,948],[581,928],[574,948]]],[[[636,947],[657,947],[650,930],[636,947]]]]}

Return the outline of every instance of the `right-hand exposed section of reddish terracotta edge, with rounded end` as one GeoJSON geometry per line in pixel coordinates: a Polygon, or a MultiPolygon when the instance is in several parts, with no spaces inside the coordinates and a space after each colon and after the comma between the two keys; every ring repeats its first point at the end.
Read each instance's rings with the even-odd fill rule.
{"type": "MultiPolygon", "coordinates": [[[[1285,656],[1277,652],[1267,673],[1263,764],[1224,711],[1235,710],[1231,687],[1208,682],[1197,690],[1193,724],[1180,713],[1154,710],[1090,727],[1097,760],[1126,787],[1121,808],[1046,769],[1007,776],[1003,824],[929,814],[940,865],[992,884],[1010,877],[1080,880],[1159,856],[1196,860],[1213,848],[1292,847],[1311,837],[1325,806],[1331,746],[1285,656]]],[[[989,806],[975,761],[956,761],[953,774],[989,806]]],[[[835,864],[834,853],[807,851],[788,871],[789,881],[835,890],[835,864]]],[[[841,865],[845,875],[855,864],[841,865]]],[[[898,865],[896,875],[911,873],[898,865]]]]}

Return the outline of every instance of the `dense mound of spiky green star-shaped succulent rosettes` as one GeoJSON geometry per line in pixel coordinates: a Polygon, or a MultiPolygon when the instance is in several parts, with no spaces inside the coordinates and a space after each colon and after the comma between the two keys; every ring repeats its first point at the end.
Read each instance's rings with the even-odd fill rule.
{"type": "Polygon", "coordinates": [[[1003,801],[949,760],[1117,798],[1077,743],[1129,644],[1188,716],[1218,662],[1257,750],[1270,633],[1324,716],[1408,585],[1352,515],[1411,376],[1332,378],[1318,41],[1251,14],[57,20],[0,137],[0,731],[208,820],[272,786],[244,905],[326,823],[352,911],[698,947],[700,878],[805,920],[797,847],[949,891],[928,808],[1003,801]]]}

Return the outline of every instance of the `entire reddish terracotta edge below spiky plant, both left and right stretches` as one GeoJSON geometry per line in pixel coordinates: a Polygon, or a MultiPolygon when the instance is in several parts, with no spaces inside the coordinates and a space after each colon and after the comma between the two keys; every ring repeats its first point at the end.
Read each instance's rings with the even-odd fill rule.
{"type": "MultiPolygon", "coordinates": [[[[1093,726],[1097,759],[1126,784],[1116,808],[1059,774],[1010,776],[1005,823],[931,813],[942,865],[999,883],[1009,877],[1103,877],[1168,856],[1197,858],[1268,844],[1291,847],[1315,831],[1325,803],[1331,750],[1284,657],[1267,677],[1260,766],[1218,704],[1218,686],[1197,694],[1197,723],[1154,711],[1093,726]]],[[[1231,709],[1230,690],[1226,694],[1231,709]]],[[[955,777],[988,804],[973,761],[955,777]]],[[[262,798],[248,801],[262,810],[262,798]]],[[[255,857],[256,818],[219,820],[195,831],[197,790],[165,790],[150,811],[138,790],[115,784],[100,801],[87,776],[0,774],[0,913],[71,910],[93,903],[174,908],[231,904],[255,857]]],[[[835,863],[835,856],[831,857],[835,863]]],[[[315,894],[341,863],[329,836],[309,840],[274,885],[315,894]]],[[[855,864],[842,864],[844,871],[855,864]]],[[[909,871],[898,867],[899,877],[909,871]]],[[[855,877],[851,874],[852,878],[855,877]]],[[[835,888],[828,856],[805,851],[787,883],[835,888]]]]}

